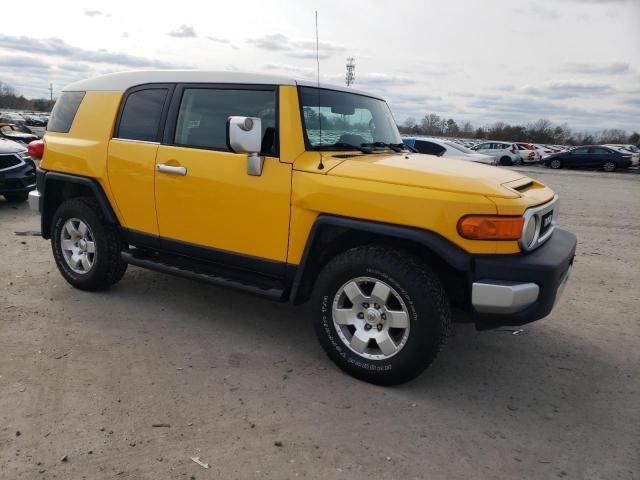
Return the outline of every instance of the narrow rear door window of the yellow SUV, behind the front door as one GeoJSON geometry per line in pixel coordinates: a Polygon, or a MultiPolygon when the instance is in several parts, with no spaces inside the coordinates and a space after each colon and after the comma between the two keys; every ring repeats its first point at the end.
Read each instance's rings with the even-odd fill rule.
{"type": "Polygon", "coordinates": [[[159,142],[160,117],[167,92],[166,88],[154,88],[130,93],[125,100],[115,138],[159,142]]]}

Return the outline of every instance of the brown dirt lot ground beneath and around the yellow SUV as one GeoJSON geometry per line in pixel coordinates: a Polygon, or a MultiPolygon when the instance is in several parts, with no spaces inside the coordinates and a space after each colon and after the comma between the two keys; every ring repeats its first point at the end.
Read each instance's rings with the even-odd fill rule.
{"type": "Polygon", "coordinates": [[[397,388],[338,371],[307,306],[132,267],[74,290],[0,200],[0,478],[640,478],[640,175],[522,170],[579,237],[564,297],[456,325],[397,388]]]}

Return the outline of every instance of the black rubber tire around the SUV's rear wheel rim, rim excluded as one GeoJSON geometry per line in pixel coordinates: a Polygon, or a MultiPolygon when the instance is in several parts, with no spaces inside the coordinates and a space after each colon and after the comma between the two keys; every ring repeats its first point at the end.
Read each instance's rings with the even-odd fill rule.
{"type": "Polygon", "coordinates": [[[91,197],[72,198],[63,202],[52,219],[51,249],[58,270],[75,288],[87,291],[106,290],[116,284],[127,270],[122,261],[122,240],[117,228],[105,220],[102,210],[91,197]],[[67,220],[76,218],[91,230],[95,243],[95,261],[86,273],[71,269],[61,248],[61,233],[67,220]]]}

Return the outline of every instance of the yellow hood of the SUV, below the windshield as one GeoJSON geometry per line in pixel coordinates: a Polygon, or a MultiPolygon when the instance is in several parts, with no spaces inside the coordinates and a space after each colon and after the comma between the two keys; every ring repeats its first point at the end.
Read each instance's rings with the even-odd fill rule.
{"type": "Polygon", "coordinates": [[[503,184],[527,178],[512,170],[419,153],[358,155],[327,175],[502,198],[520,197],[503,184]]]}

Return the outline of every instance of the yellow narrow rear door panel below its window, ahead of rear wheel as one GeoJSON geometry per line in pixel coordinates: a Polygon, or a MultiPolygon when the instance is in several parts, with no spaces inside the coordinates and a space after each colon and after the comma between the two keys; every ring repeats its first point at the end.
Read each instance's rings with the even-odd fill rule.
{"type": "Polygon", "coordinates": [[[124,227],[158,235],[154,169],[158,144],[111,140],[107,170],[124,227]]]}

